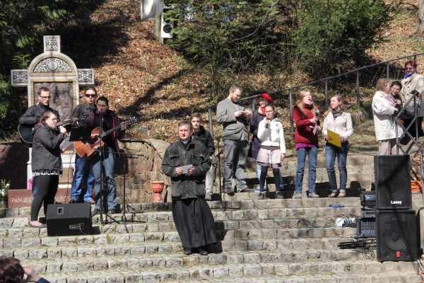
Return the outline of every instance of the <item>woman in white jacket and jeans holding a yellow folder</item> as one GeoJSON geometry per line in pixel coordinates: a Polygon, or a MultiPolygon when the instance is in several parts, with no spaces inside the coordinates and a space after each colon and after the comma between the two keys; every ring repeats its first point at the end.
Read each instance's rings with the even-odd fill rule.
{"type": "Polygon", "coordinates": [[[348,181],[348,171],[346,170],[346,159],[349,151],[349,137],[353,134],[352,117],[343,107],[341,96],[333,96],[330,100],[330,108],[324,113],[324,126],[322,134],[326,140],[325,163],[331,195],[329,197],[346,197],[346,183],[348,181]],[[334,140],[334,139],[340,140],[334,140]],[[336,172],[334,163],[336,162],[338,173],[340,174],[340,187],[337,189],[336,172]]]}

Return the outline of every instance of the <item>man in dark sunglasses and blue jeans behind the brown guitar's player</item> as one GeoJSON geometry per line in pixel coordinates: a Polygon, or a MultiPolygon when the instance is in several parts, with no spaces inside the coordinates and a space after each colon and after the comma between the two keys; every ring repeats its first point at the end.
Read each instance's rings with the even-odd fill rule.
{"type": "MultiPolygon", "coordinates": [[[[72,112],[73,126],[78,125],[78,122],[86,120],[86,117],[93,114],[93,110],[96,108],[95,99],[97,98],[97,90],[93,86],[86,88],[84,96],[86,102],[76,105],[76,108],[72,112]]],[[[73,172],[71,186],[71,200],[69,203],[86,202],[95,204],[95,200],[93,200],[93,196],[91,195],[94,183],[93,166],[91,166],[90,160],[76,154],[75,171],[73,172]],[[85,186],[83,185],[84,183],[85,186]]]]}

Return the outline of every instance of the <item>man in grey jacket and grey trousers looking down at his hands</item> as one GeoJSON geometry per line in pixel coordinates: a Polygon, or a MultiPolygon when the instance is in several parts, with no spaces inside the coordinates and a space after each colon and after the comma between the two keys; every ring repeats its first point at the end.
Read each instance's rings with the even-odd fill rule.
{"type": "Polygon", "coordinates": [[[241,86],[231,86],[228,98],[220,101],[216,109],[216,119],[223,123],[223,140],[225,158],[223,164],[224,192],[231,194],[232,171],[235,171],[235,185],[237,192],[248,192],[245,181],[245,163],[247,158],[247,144],[249,141],[249,125],[252,111],[239,103],[242,96],[241,86]]]}

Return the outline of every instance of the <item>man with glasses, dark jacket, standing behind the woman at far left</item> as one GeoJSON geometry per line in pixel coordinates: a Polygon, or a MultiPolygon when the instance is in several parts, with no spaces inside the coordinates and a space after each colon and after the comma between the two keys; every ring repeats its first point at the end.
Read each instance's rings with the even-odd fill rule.
{"type": "MultiPolygon", "coordinates": [[[[23,115],[19,117],[19,125],[23,125],[25,127],[34,127],[35,124],[40,122],[40,117],[42,113],[44,113],[46,110],[54,112],[54,114],[57,116],[57,119],[60,121],[59,112],[49,107],[51,98],[49,88],[42,86],[37,91],[37,95],[38,103],[28,108],[28,110],[26,110],[25,113],[23,113],[23,115]]],[[[33,184],[33,197],[35,197],[36,192],[37,187],[35,187],[35,185],[33,184]]]]}

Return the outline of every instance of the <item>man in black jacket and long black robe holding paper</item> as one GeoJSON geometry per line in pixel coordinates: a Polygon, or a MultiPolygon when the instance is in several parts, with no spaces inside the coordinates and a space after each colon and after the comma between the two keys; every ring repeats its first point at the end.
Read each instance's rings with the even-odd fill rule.
{"type": "Polygon", "coordinates": [[[205,200],[205,177],[211,158],[206,146],[192,139],[192,134],[189,121],[179,122],[179,140],[167,147],[162,171],[171,178],[172,217],[184,255],[208,255],[206,245],[218,241],[215,221],[205,200]]]}

